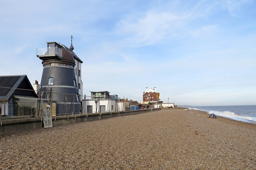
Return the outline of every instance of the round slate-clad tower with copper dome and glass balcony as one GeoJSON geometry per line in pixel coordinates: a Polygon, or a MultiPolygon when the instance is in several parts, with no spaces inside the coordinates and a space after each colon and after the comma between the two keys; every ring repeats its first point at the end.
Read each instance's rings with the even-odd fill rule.
{"type": "Polygon", "coordinates": [[[37,49],[36,56],[43,64],[39,95],[42,94],[49,104],[56,101],[57,115],[82,112],[79,77],[77,80],[74,70],[76,55],[72,49],[56,42],[48,42],[47,48],[37,49]]]}

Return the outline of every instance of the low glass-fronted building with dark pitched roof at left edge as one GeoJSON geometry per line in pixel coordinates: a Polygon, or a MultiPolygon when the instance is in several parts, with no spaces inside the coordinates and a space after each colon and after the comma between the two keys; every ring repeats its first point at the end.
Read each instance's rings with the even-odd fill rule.
{"type": "Polygon", "coordinates": [[[26,75],[0,76],[0,86],[0,115],[37,114],[38,97],[26,75]]]}

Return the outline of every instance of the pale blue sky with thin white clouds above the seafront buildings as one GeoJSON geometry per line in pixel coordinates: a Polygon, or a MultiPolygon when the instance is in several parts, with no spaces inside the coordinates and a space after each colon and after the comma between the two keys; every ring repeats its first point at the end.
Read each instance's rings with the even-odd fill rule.
{"type": "Polygon", "coordinates": [[[175,105],[256,105],[256,0],[0,0],[0,75],[40,83],[36,48],[82,63],[84,94],[175,105]]]}

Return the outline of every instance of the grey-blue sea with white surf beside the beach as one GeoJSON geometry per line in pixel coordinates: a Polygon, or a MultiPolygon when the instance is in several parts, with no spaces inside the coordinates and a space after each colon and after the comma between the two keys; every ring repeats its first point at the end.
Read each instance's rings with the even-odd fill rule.
{"type": "Polygon", "coordinates": [[[218,116],[256,123],[256,105],[246,106],[188,106],[188,108],[207,111],[209,114],[214,113],[218,116]]]}

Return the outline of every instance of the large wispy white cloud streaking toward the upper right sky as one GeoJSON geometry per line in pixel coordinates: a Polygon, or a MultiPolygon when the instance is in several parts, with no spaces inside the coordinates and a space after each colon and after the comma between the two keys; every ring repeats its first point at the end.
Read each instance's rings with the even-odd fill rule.
{"type": "MultiPolygon", "coordinates": [[[[165,4],[161,4],[162,7],[165,4]]],[[[163,41],[182,39],[190,36],[208,35],[218,28],[216,24],[200,22],[190,24],[200,18],[207,18],[216,3],[200,1],[194,8],[162,10],[152,8],[143,14],[130,14],[116,24],[116,34],[124,37],[122,44],[128,47],[154,45],[163,41]]]]}

